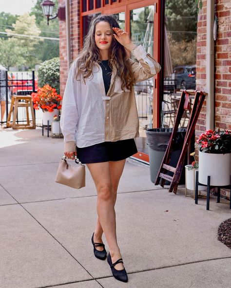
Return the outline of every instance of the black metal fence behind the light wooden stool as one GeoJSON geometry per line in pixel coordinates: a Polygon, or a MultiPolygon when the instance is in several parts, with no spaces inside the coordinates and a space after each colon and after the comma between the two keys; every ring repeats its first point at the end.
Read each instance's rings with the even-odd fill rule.
{"type": "MultiPolygon", "coordinates": [[[[8,72],[0,70],[0,124],[5,124],[9,113],[9,104],[12,95],[30,95],[36,92],[35,71],[8,72]],[[5,113],[3,113],[5,107],[5,113]],[[3,115],[5,114],[5,115],[3,115]],[[5,120],[4,120],[5,119],[5,120]]],[[[17,122],[24,122],[22,114],[17,122]]]]}

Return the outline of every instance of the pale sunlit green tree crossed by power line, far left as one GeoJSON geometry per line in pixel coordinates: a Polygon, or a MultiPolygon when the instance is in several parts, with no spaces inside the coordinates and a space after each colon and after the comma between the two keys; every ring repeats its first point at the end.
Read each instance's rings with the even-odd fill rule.
{"type": "MultiPolygon", "coordinates": [[[[6,29],[8,33],[29,35],[29,36],[39,36],[40,30],[36,25],[35,16],[29,16],[29,14],[24,14],[19,16],[14,24],[12,24],[13,29],[6,29]]],[[[22,52],[23,57],[26,60],[26,65],[30,68],[34,67],[35,64],[39,63],[36,53],[36,47],[41,39],[34,37],[25,36],[12,36],[15,39],[16,46],[22,52]]]]}

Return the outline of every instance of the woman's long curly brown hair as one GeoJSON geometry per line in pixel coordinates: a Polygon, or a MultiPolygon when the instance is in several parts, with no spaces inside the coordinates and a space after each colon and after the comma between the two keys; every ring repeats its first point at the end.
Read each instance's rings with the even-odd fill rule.
{"type": "MultiPolygon", "coordinates": [[[[83,80],[93,76],[92,70],[95,62],[101,61],[99,49],[95,41],[96,24],[101,21],[109,23],[112,35],[115,33],[112,27],[120,29],[116,19],[112,15],[99,15],[92,19],[89,31],[84,38],[83,47],[76,61],[75,77],[77,80],[80,74],[82,74],[83,80]]],[[[116,75],[121,79],[121,89],[124,90],[126,87],[128,90],[131,90],[135,83],[132,66],[124,46],[121,45],[114,36],[112,37],[108,56],[110,68],[113,69],[113,64],[116,66],[116,75]]]]}

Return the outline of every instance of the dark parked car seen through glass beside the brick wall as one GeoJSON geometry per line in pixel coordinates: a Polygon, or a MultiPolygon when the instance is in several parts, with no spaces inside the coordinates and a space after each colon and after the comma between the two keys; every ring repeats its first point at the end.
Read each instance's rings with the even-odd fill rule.
{"type": "Polygon", "coordinates": [[[181,65],[173,69],[175,79],[177,80],[177,89],[195,89],[196,88],[196,66],[181,65]]]}

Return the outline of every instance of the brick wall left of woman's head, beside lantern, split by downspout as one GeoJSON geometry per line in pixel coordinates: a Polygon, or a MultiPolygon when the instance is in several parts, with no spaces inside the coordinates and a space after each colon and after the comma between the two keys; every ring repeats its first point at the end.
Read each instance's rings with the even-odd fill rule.
{"type": "MultiPolygon", "coordinates": [[[[64,5],[59,0],[59,5],[64,5]]],[[[71,58],[77,57],[80,48],[80,0],[70,1],[71,58]]],[[[59,21],[60,94],[63,95],[68,74],[66,21],[59,21]]]]}

